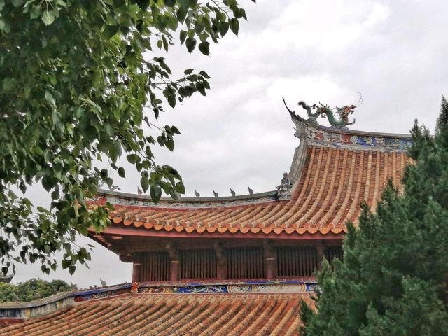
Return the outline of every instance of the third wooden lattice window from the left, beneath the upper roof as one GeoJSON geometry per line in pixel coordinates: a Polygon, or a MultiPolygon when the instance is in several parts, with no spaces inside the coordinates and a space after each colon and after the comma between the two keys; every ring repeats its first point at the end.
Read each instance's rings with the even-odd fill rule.
{"type": "Polygon", "coordinates": [[[262,279],[265,277],[263,248],[228,248],[228,279],[262,279]]]}

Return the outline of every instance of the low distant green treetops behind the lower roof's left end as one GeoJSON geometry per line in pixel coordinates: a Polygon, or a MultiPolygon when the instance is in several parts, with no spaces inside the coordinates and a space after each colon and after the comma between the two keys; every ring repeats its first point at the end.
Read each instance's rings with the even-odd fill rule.
{"type": "Polygon", "coordinates": [[[76,289],[63,280],[30,279],[17,285],[0,282],[0,302],[29,302],[76,289]]]}

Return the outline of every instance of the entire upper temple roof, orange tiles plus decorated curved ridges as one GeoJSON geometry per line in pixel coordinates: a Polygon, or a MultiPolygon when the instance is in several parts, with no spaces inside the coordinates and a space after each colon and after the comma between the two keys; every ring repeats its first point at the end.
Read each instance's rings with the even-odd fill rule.
{"type": "MultiPolygon", "coordinates": [[[[412,144],[409,134],[324,127],[290,113],[300,139],[289,172],[290,200],[270,191],[180,201],[162,198],[154,204],[147,196],[102,190],[95,202],[108,201],[115,207],[106,232],[132,228],[139,235],[165,232],[184,237],[335,236],[346,232],[346,221],[357,223],[361,202],[375,209],[388,179],[400,184],[410,162],[406,154],[412,144]]],[[[94,239],[109,244],[99,235],[94,239]]]]}

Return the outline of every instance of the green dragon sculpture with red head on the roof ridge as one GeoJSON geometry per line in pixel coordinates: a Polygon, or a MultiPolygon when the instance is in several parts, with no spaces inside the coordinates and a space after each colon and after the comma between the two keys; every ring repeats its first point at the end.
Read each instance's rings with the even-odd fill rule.
{"type": "MultiPolygon", "coordinates": [[[[286,102],[283,98],[283,102],[286,102]]],[[[360,99],[360,102],[362,102],[362,98],[360,99]]],[[[356,119],[353,119],[352,122],[349,122],[349,114],[354,112],[354,109],[356,108],[356,105],[346,105],[342,107],[334,107],[331,108],[328,105],[323,105],[321,102],[314,105],[307,105],[307,103],[300,101],[298,103],[299,106],[302,106],[302,108],[307,111],[308,113],[308,121],[310,123],[318,124],[316,118],[318,116],[321,116],[322,118],[328,118],[328,121],[330,122],[331,127],[337,127],[337,128],[346,128],[347,125],[353,125],[356,121],[356,119]],[[335,113],[339,113],[339,118],[335,117],[335,113]]],[[[288,106],[286,106],[286,109],[290,111],[288,106]]],[[[290,111],[290,113],[294,113],[293,111],[290,111]]],[[[295,114],[295,113],[294,113],[295,114]]]]}

